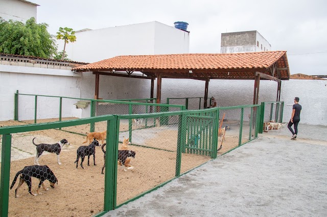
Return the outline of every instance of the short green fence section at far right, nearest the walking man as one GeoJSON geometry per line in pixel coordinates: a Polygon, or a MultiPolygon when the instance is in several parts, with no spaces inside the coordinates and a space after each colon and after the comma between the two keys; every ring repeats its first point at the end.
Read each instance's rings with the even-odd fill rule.
{"type": "Polygon", "coordinates": [[[260,114],[259,133],[264,131],[264,122],[274,121],[282,123],[284,111],[284,101],[279,102],[262,102],[260,114]]]}

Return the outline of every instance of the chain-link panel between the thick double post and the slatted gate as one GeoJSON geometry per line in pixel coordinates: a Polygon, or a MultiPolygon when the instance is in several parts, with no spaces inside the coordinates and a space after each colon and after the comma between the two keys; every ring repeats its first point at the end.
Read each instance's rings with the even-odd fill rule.
{"type": "Polygon", "coordinates": [[[120,119],[133,128],[119,133],[117,205],[175,177],[179,117],[120,119]]]}

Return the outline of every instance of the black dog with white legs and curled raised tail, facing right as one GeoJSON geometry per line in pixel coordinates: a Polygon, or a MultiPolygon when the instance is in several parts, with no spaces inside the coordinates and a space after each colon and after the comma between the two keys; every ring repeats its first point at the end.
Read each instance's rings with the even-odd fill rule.
{"type": "Polygon", "coordinates": [[[61,165],[60,159],[59,159],[59,154],[60,151],[62,149],[62,147],[64,145],[69,145],[68,141],[66,139],[60,140],[58,143],[56,144],[45,144],[45,143],[40,143],[40,144],[35,144],[34,140],[36,139],[36,137],[33,139],[33,144],[36,145],[36,157],[34,159],[34,164],[36,165],[40,165],[39,164],[39,158],[41,156],[41,154],[43,153],[43,151],[48,151],[50,153],[54,152],[57,154],[57,160],[58,160],[58,164],[61,165]]]}

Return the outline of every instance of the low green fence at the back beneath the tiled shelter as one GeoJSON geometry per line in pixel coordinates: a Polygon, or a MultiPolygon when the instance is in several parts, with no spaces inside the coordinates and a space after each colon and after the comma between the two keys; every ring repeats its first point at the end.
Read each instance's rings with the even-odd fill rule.
{"type": "MultiPolygon", "coordinates": [[[[207,103],[211,104],[211,98],[207,98],[207,103]]],[[[204,108],[204,97],[167,98],[167,104],[183,104],[186,110],[201,110],[204,108]]]]}

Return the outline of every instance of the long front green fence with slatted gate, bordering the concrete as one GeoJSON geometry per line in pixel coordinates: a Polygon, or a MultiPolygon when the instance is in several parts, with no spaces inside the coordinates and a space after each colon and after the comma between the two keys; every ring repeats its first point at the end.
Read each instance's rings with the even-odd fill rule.
{"type": "MultiPolygon", "coordinates": [[[[60,210],[60,216],[101,216],[154,191],[217,155],[257,138],[260,108],[260,105],[244,105],[201,111],[107,115],[2,127],[2,216],[6,216],[8,210],[10,215],[24,215],[26,212],[30,215],[56,215],[56,210],[60,210]],[[122,131],[121,125],[132,120],[135,126],[131,131],[122,131]],[[85,160],[85,169],[79,165],[76,169],[73,164],[76,150],[83,145],[85,137],[72,132],[76,129],[86,130],[91,123],[97,126],[100,122],[106,122],[105,161],[101,148],[96,147],[97,166],[92,165],[91,159],[91,166],[86,166],[85,160]],[[145,123],[151,123],[152,126],[144,127],[145,123]],[[220,126],[226,128],[222,136],[219,133],[220,126]],[[131,136],[133,139],[127,149],[136,154],[124,171],[123,166],[118,164],[118,159],[121,159],[119,150],[123,148],[123,139],[131,139],[131,136]],[[71,143],[60,154],[61,165],[57,164],[54,154],[44,154],[39,159],[40,164],[48,165],[58,178],[58,185],[54,189],[48,192],[41,189],[42,200],[38,199],[40,196],[29,195],[25,184],[19,189],[18,198],[15,198],[14,189],[9,190],[15,173],[25,166],[33,165],[36,151],[33,138],[37,138],[37,144],[53,144],[63,138],[71,143]],[[102,175],[104,162],[105,175],[102,175]],[[61,202],[53,204],[58,198],[61,202]]],[[[33,180],[32,192],[35,192],[37,182],[33,180]]]]}

